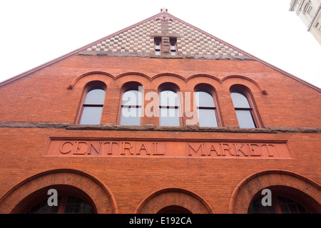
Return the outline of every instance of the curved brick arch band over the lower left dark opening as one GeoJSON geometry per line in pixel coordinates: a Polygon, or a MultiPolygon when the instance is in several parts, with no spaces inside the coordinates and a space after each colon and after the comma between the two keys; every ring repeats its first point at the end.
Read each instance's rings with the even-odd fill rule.
{"type": "Polygon", "coordinates": [[[91,198],[98,214],[118,213],[116,200],[100,180],[78,170],[49,170],[23,180],[0,198],[0,213],[9,214],[21,200],[52,185],[68,185],[91,198]]]}

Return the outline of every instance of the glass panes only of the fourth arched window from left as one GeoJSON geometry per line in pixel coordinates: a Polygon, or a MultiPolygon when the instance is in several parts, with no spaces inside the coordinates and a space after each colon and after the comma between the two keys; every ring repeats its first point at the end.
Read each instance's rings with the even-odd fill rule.
{"type": "Polygon", "coordinates": [[[213,96],[208,90],[195,92],[195,103],[198,109],[200,127],[218,127],[218,118],[213,96]]]}

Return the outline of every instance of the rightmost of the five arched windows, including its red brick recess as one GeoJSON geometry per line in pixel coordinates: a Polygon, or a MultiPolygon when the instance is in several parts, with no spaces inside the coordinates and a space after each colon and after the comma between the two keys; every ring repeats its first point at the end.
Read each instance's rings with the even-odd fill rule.
{"type": "Polygon", "coordinates": [[[240,128],[262,128],[250,90],[235,85],[231,87],[230,95],[240,128]]]}

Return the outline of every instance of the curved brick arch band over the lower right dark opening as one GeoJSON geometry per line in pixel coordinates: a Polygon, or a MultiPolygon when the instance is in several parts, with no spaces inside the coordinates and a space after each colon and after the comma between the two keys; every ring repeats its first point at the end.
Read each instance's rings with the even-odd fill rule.
{"type": "Polygon", "coordinates": [[[309,196],[317,207],[321,204],[321,187],[316,182],[294,172],[284,170],[267,170],[245,177],[230,197],[229,214],[246,214],[253,197],[264,188],[284,186],[309,196]]]}

